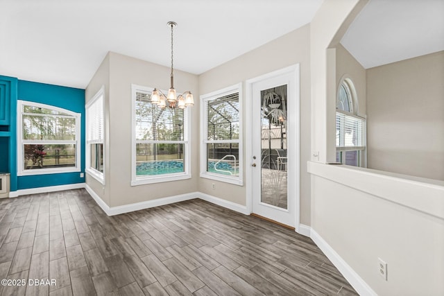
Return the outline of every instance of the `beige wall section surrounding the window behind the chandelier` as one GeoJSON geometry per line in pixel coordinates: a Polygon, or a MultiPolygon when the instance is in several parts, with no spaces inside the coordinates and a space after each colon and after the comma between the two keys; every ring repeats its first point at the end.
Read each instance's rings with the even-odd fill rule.
{"type": "Polygon", "coordinates": [[[198,138],[199,103],[198,77],[183,71],[174,71],[175,87],[179,93],[190,90],[194,94],[195,105],[191,112],[191,179],[131,186],[132,163],[132,112],[131,84],[146,87],[169,89],[171,69],[119,53],[109,53],[109,131],[105,149],[108,149],[109,164],[105,191],[110,190],[110,207],[123,204],[146,202],[185,193],[193,193],[198,188],[198,138]]]}

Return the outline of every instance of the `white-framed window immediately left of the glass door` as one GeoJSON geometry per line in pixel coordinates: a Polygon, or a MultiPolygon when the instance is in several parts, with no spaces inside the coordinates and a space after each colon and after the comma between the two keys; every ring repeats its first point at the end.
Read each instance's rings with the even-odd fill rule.
{"type": "Polygon", "coordinates": [[[243,184],[241,85],[200,96],[200,177],[243,184]]]}

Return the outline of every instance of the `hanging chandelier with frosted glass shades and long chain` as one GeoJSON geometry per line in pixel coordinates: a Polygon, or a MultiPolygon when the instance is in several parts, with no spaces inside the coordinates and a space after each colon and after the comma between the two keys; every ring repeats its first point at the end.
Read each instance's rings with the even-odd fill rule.
{"type": "Polygon", "coordinates": [[[168,95],[165,96],[160,89],[154,89],[153,94],[151,94],[151,103],[157,105],[158,107],[164,108],[167,105],[170,108],[180,108],[185,109],[186,107],[191,107],[194,105],[194,98],[191,92],[184,92],[183,94],[176,94],[176,89],[174,89],[174,76],[173,76],[173,28],[176,27],[174,21],[169,21],[168,26],[171,27],[171,74],[170,82],[171,86],[168,90],[168,95]]]}

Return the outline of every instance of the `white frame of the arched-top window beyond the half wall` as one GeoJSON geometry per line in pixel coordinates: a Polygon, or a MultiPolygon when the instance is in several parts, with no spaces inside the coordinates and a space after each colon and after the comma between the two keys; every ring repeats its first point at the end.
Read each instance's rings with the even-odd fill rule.
{"type": "Polygon", "coordinates": [[[348,109],[351,110],[351,112],[345,112],[343,110],[339,110],[336,107],[336,114],[344,114],[345,116],[355,117],[357,119],[361,119],[364,121],[364,134],[362,134],[362,137],[364,137],[364,146],[336,146],[336,153],[339,153],[339,162],[342,164],[345,164],[345,152],[346,151],[357,151],[357,166],[358,167],[366,167],[367,166],[367,159],[366,159],[366,151],[367,151],[367,132],[366,132],[366,115],[365,114],[359,114],[358,112],[358,102],[357,102],[357,94],[355,89],[355,84],[352,82],[351,78],[345,74],[340,82],[339,87],[337,89],[336,93],[336,106],[337,101],[339,99],[339,91],[341,89],[341,85],[344,85],[345,92],[348,96],[348,109]]]}

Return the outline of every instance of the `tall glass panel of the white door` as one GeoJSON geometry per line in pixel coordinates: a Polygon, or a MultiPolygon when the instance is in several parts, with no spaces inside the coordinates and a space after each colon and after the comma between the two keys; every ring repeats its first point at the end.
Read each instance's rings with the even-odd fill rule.
{"type": "Polygon", "coordinates": [[[287,85],[261,91],[261,202],[287,209],[287,85]]]}

